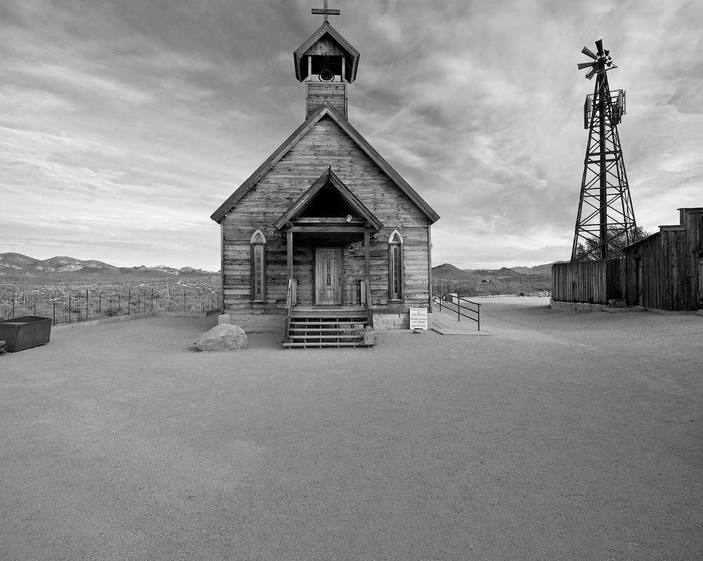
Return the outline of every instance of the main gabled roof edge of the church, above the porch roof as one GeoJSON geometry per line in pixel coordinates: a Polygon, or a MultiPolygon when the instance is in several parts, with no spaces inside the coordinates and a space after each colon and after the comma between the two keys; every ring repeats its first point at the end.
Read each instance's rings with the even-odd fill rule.
{"type": "Polygon", "coordinates": [[[315,124],[325,115],[331,117],[332,120],[335,121],[354,142],[356,142],[359,148],[361,148],[361,150],[363,150],[363,152],[366,153],[366,155],[368,155],[368,157],[370,157],[371,160],[373,160],[373,162],[375,162],[375,164],[378,165],[378,167],[380,167],[380,169],[382,169],[390,179],[392,179],[396,186],[398,186],[403,193],[408,195],[408,198],[410,198],[415,205],[423,211],[425,216],[430,219],[430,222],[436,222],[439,220],[439,214],[434,212],[432,207],[430,207],[430,205],[428,205],[427,202],[425,202],[425,200],[418,195],[418,193],[415,193],[415,190],[408,185],[405,179],[403,179],[398,172],[396,172],[396,170],[393,169],[391,165],[386,162],[386,160],[384,160],[383,157],[376,152],[376,150],[373,149],[373,147],[366,141],[366,138],[363,138],[363,136],[359,134],[359,131],[356,131],[356,129],[349,124],[349,121],[344,119],[344,116],[327,102],[320,105],[315,112],[311,113],[307,120],[305,120],[305,122],[301,124],[293,132],[293,134],[291,134],[285,142],[281,144],[276,151],[271,154],[266,161],[239,186],[237,191],[232,193],[229,198],[220,205],[220,207],[212,214],[210,218],[216,222],[220,222],[224,218],[225,214],[227,214],[232,207],[236,205],[237,202],[239,202],[239,200],[241,200],[254,185],[257,184],[259,179],[262,179],[264,174],[269,172],[269,170],[276,165],[276,162],[285,156],[288,151],[295,146],[300,138],[305,136],[305,134],[307,134],[310,129],[312,129],[312,127],[314,127],[315,124]]]}

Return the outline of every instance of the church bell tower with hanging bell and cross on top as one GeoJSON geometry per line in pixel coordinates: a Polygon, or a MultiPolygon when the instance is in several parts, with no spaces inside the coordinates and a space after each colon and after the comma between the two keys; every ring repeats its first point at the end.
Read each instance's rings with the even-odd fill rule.
{"type": "Polygon", "coordinates": [[[356,79],[359,51],[328,22],[328,15],[340,15],[340,10],[328,8],[325,0],[324,8],[312,8],[312,13],[325,20],[293,53],[295,77],[305,83],[305,118],[326,101],[348,119],[347,86],[356,79]]]}

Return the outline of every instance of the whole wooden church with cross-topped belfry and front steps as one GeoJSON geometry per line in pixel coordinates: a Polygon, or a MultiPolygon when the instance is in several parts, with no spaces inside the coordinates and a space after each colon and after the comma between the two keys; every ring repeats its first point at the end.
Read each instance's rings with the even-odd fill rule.
{"type": "Polygon", "coordinates": [[[222,203],[223,314],[285,347],[370,344],[373,329],[432,317],[439,219],[347,117],[356,51],[324,22],[295,50],[304,122],[222,203]],[[366,343],[365,343],[366,342],[366,343]]]}

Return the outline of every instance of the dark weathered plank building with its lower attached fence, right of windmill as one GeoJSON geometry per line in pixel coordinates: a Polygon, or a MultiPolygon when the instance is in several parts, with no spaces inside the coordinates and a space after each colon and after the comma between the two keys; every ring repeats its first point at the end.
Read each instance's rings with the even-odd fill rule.
{"type": "Polygon", "coordinates": [[[666,311],[703,309],[703,208],[678,209],[681,224],[624,248],[623,259],[552,266],[555,302],[608,304],[666,311]]]}

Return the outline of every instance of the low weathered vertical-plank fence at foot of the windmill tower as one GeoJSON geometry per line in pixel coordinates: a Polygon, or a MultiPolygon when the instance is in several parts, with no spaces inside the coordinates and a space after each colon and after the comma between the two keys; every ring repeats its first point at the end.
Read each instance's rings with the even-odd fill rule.
{"type": "Polygon", "coordinates": [[[556,302],[607,304],[625,299],[624,259],[600,259],[552,265],[552,299],[556,302]]]}

